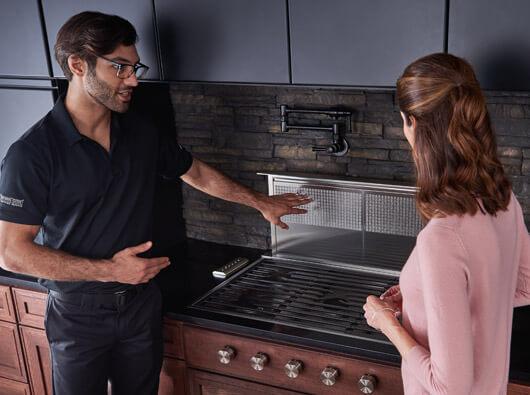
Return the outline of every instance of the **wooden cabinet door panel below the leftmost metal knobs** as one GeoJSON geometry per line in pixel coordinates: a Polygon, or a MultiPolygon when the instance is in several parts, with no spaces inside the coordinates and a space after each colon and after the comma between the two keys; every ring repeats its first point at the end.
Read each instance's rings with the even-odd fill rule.
{"type": "Polygon", "coordinates": [[[188,384],[191,395],[294,395],[301,392],[283,390],[263,384],[220,376],[188,369],[188,384]]]}

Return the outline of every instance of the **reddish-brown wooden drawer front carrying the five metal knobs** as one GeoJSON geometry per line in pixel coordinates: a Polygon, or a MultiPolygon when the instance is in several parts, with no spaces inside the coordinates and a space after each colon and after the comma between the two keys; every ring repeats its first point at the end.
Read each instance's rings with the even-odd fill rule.
{"type": "Polygon", "coordinates": [[[403,394],[401,371],[397,366],[194,326],[183,325],[182,330],[186,364],[191,368],[311,394],[356,393],[359,391],[357,387],[359,379],[369,374],[377,380],[375,393],[403,394]],[[220,363],[217,355],[217,352],[225,346],[230,346],[235,351],[235,357],[228,364],[220,363]],[[250,363],[251,358],[258,352],[265,353],[269,359],[268,364],[261,371],[254,370],[250,363]],[[292,359],[303,364],[303,369],[297,378],[288,377],[284,371],[286,363],[292,359]],[[327,367],[339,371],[333,386],[326,386],[321,381],[321,373],[327,367]]]}

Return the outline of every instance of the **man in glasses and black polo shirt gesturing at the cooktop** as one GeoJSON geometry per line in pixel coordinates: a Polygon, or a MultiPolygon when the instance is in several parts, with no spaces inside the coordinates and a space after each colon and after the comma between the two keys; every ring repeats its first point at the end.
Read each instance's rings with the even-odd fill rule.
{"type": "Polygon", "coordinates": [[[294,194],[267,197],[193,158],[126,114],[147,67],[134,27],[94,12],[73,16],[55,57],[69,88],[9,149],[0,177],[0,260],[40,278],[56,394],[156,394],[162,363],[161,296],[167,257],[151,247],[157,175],[180,176],[272,223],[304,213],[294,194]],[[36,243],[38,236],[41,243],[36,243]]]}

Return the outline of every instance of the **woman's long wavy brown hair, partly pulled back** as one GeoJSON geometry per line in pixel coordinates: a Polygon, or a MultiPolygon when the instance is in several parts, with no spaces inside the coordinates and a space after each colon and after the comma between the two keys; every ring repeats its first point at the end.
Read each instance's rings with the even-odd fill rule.
{"type": "Polygon", "coordinates": [[[416,120],[412,153],[420,215],[429,220],[506,210],[511,183],[471,65],[445,53],[418,59],[398,79],[397,99],[409,125],[411,116],[416,120]]]}

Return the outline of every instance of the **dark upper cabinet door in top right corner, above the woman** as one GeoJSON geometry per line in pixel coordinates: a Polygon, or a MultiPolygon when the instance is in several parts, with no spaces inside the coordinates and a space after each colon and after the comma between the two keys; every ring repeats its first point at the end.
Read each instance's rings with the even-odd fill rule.
{"type": "Polygon", "coordinates": [[[448,50],[483,89],[530,90],[530,1],[451,0],[448,50]]]}

